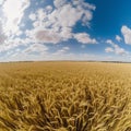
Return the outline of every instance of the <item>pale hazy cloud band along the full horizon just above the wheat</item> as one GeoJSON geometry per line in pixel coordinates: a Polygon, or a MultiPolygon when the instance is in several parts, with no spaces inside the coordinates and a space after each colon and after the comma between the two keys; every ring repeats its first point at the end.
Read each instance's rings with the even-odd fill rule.
{"type": "Polygon", "coordinates": [[[26,61],[26,60],[95,60],[95,61],[130,61],[131,58],[126,56],[95,56],[90,53],[61,53],[61,55],[52,55],[52,53],[41,53],[40,56],[36,56],[33,53],[16,53],[13,56],[0,57],[0,61],[26,61]]]}

